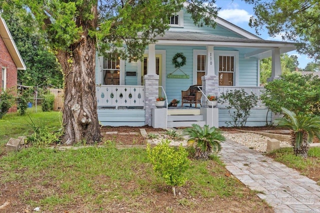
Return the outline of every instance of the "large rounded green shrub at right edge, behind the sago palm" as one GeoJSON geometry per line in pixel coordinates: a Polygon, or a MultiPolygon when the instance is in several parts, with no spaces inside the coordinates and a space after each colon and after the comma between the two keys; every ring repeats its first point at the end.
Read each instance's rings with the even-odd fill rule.
{"type": "Polygon", "coordinates": [[[285,107],[296,114],[320,115],[319,77],[296,72],[280,77],[264,86],[260,98],[266,107],[274,113],[285,107]]]}

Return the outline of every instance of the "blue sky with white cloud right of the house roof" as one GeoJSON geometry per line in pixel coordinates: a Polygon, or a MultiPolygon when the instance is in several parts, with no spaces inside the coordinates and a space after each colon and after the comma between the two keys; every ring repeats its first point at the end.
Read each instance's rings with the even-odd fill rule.
{"type": "MultiPolygon", "coordinates": [[[[221,7],[218,16],[230,21],[231,23],[253,33],[255,33],[254,28],[249,27],[249,18],[253,15],[253,9],[251,4],[247,4],[242,0],[216,0],[215,2],[218,7],[221,7]]],[[[267,31],[259,31],[259,37],[265,40],[277,40],[281,41],[281,35],[276,37],[270,37],[267,31]]],[[[308,58],[307,55],[301,55],[296,51],[291,51],[287,53],[288,55],[297,55],[299,61],[299,68],[304,68],[308,62],[313,60],[308,58]]]]}

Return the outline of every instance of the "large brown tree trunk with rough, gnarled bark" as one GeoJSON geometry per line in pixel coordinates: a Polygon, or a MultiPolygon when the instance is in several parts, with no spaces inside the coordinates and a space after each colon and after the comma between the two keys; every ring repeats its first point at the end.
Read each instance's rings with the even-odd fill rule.
{"type": "Polygon", "coordinates": [[[64,72],[63,143],[100,141],[95,95],[95,47],[93,40],[82,34],[70,52],[58,51],[64,72]]]}

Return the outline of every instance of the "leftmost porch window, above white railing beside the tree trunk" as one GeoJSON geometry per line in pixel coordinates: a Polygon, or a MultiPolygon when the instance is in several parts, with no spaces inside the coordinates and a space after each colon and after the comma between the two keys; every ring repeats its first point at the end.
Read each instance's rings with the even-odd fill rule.
{"type": "Polygon", "coordinates": [[[120,85],[120,58],[111,53],[103,57],[102,84],[120,85]]]}

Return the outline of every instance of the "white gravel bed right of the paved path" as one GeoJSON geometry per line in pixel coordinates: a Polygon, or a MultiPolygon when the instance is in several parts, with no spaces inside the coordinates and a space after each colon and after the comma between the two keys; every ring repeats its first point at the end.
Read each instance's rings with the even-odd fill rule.
{"type": "MultiPolygon", "coordinates": [[[[269,137],[254,133],[223,133],[226,139],[232,140],[238,144],[242,144],[250,149],[258,152],[266,152],[266,140],[269,137]]],[[[280,141],[280,147],[290,147],[286,141],[280,141]]]]}

